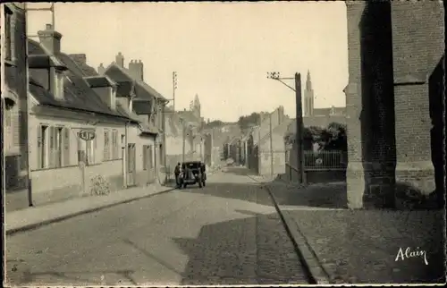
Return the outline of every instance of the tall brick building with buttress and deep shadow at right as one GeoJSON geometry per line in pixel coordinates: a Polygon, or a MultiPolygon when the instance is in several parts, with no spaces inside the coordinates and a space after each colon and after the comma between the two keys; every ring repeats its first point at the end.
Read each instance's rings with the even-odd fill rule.
{"type": "Polygon", "coordinates": [[[443,4],[346,5],[349,206],[394,207],[400,187],[441,200],[443,4]]]}

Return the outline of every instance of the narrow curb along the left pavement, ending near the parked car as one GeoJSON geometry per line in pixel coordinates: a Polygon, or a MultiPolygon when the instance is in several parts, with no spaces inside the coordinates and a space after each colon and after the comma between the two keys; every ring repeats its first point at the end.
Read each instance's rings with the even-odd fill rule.
{"type": "Polygon", "coordinates": [[[64,215],[64,216],[58,216],[58,217],[55,217],[53,219],[48,219],[48,220],[45,220],[45,221],[42,221],[42,222],[38,222],[38,223],[34,223],[34,224],[26,224],[26,225],[23,225],[21,227],[17,227],[17,228],[13,228],[13,229],[7,229],[5,233],[6,233],[7,236],[10,236],[10,235],[13,235],[13,234],[16,234],[16,233],[21,233],[21,232],[25,232],[25,231],[35,230],[35,229],[38,229],[39,227],[45,226],[47,224],[53,224],[53,223],[61,222],[63,220],[67,220],[67,219],[70,219],[70,218],[73,218],[73,217],[76,217],[76,216],[81,216],[81,215],[84,215],[84,214],[97,212],[97,211],[100,211],[100,210],[103,210],[103,209],[106,209],[106,208],[112,208],[114,206],[118,206],[118,205],[122,205],[122,204],[126,204],[126,203],[131,203],[131,202],[137,201],[139,199],[151,198],[153,196],[164,194],[164,193],[167,193],[167,192],[170,192],[170,191],[173,191],[173,190],[175,190],[175,188],[171,188],[170,187],[167,190],[158,191],[158,192],[153,193],[153,194],[139,196],[139,197],[131,198],[131,199],[120,200],[120,201],[117,201],[117,202],[114,202],[114,203],[110,203],[110,204],[107,204],[107,205],[104,205],[104,206],[98,206],[96,208],[89,208],[89,209],[81,210],[81,211],[78,211],[78,212],[75,212],[75,213],[72,213],[72,214],[68,214],[68,215],[64,215]]]}

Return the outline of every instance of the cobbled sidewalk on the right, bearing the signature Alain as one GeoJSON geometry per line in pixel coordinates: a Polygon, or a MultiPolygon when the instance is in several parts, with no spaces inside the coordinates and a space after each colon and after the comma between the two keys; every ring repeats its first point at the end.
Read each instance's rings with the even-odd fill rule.
{"type": "Polygon", "coordinates": [[[443,211],[349,210],[343,183],[265,184],[318,284],[445,281],[443,211]],[[413,254],[396,261],[407,248],[425,250],[428,264],[413,254]]]}

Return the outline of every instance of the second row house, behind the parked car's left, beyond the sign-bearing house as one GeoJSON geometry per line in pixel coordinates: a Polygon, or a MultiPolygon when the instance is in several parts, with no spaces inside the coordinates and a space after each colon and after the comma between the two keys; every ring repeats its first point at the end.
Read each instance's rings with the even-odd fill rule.
{"type": "Polygon", "coordinates": [[[137,155],[140,159],[145,159],[146,156],[154,154],[155,157],[148,161],[155,163],[150,169],[155,169],[156,181],[164,182],[166,178],[164,109],[168,100],[145,82],[144,65],[141,61],[132,60],[128,68],[124,67],[124,56],[121,52],[116,55],[115,62],[106,68],[101,64],[98,72],[117,83],[117,99],[121,106],[145,123],[151,131],[156,132],[155,143],[137,148],[137,155]]]}

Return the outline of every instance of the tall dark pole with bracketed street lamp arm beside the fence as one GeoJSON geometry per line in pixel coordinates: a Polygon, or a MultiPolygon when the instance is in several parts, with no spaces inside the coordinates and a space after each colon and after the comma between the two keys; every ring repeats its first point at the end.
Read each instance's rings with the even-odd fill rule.
{"type": "Polygon", "coordinates": [[[295,73],[295,77],[281,77],[280,72],[267,72],[267,79],[273,79],[280,81],[283,85],[287,86],[289,89],[295,91],[295,99],[296,99],[296,114],[297,114],[297,128],[296,128],[296,142],[297,142],[297,160],[298,160],[298,182],[301,184],[303,182],[304,176],[304,166],[303,166],[303,111],[302,111],[302,103],[301,103],[301,75],[299,73],[295,73]],[[295,80],[295,88],[292,88],[290,85],[285,83],[283,80],[295,80]]]}

